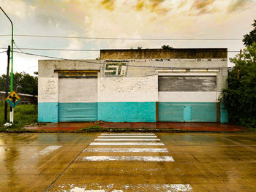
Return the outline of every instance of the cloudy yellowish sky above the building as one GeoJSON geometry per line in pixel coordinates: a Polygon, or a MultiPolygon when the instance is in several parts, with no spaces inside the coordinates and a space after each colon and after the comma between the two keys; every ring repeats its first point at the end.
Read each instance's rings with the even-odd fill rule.
{"type": "MultiPolygon", "coordinates": [[[[64,37],[242,39],[256,19],[256,0],[0,0],[17,35],[64,37]]],[[[10,45],[11,26],[0,12],[0,47],[10,45]]],[[[244,48],[241,40],[152,41],[68,39],[15,36],[20,48],[100,50],[115,48],[226,47],[244,48]]],[[[6,73],[7,55],[0,49],[0,74],[6,73]]],[[[20,50],[18,50],[20,51],[20,50]]],[[[23,50],[59,58],[97,58],[99,52],[23,50]]],[[[236,53],[229,53],[233,57],[236,53]]],[[[37,71],[40,58],[15,53],[14,71],[37,71]]]]}

